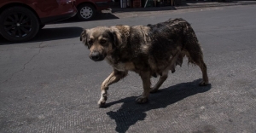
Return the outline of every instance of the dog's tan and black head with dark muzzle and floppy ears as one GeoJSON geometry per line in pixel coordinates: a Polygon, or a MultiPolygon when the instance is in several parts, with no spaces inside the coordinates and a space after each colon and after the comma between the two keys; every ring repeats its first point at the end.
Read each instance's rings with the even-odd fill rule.
{"type": "Polygon", "coordinates": [[[80,41],[90,49],[91,60],[102,61],[119,46],[121,38],[117,28],[99,26],[85,29],[81,33],[80,41]]]}

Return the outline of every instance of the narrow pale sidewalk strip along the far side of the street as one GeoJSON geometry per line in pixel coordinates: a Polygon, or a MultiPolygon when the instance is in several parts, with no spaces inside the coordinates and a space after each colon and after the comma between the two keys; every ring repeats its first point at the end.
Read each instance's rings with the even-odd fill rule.
{"type": "Polygon", "coordinates": [[[218,2],[183,2],[179,6],[166,6],[166,7],[149,7],[149,8],[113,8],[112,13],[119,12],[135,12],[135,11],[160,11],[160,10],[176,10],[176,9],[190,9],[190,8],[207,8],[207,7],[221,7],[221,6],[235,6],[235,5],[248,5],[256,4],[256,1],[232,1],[230,3],[218,2]]]}

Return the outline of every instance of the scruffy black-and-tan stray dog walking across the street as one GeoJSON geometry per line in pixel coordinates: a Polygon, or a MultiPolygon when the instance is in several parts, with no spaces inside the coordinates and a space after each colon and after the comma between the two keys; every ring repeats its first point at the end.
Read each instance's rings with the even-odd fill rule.
{"type": "Polygon", "coordinates": [[[107,101],[108,86],[125,78],[128,71],[137,72],[143,80],[143,94],[136,101],[147,102],[149,93],[160,88],[169,70],[175,72],[175,67],[182,65],[184,56],[201,68],[199,85],[208,84],[201,46],[186,20],[170,19],[148,26],[98,26],[85,29],[80,41],[90,49],[91,60],[106,60],[113,67],[102,83],[100,107],[107,101]],[[160,79],[151,88],[150,78],[157,76],[160,79]]]}

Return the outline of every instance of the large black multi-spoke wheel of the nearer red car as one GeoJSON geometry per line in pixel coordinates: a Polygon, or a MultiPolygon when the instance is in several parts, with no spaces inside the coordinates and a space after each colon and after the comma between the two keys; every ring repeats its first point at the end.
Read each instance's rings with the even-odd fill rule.
{"type": "Polygon", "coordinates": [[[24,7],[5,9],[0,16],[0,32],[11,42],[28,41],[39,30],[38,17],[24,7]]]}

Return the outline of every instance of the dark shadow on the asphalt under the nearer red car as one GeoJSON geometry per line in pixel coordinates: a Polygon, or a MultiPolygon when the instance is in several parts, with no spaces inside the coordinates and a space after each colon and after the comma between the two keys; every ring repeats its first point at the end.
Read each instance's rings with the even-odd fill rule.
{"type": "MultiPolygon", "coordinates": [[[[57,27],[57,28],[43,28],[40,30],[35,38],[32,40],[23,42],[23,43],[34,43],[34,42],[44,42],[44,41],[52,41],[66,38],[78,38],[80,37],[81,32],[83,32],[83,28],[81,27],[57,27]]],[[[9,42],[8,40],[0,37],[0,43],[2,45],[5,44],[15,44],[9,42]]]]}

